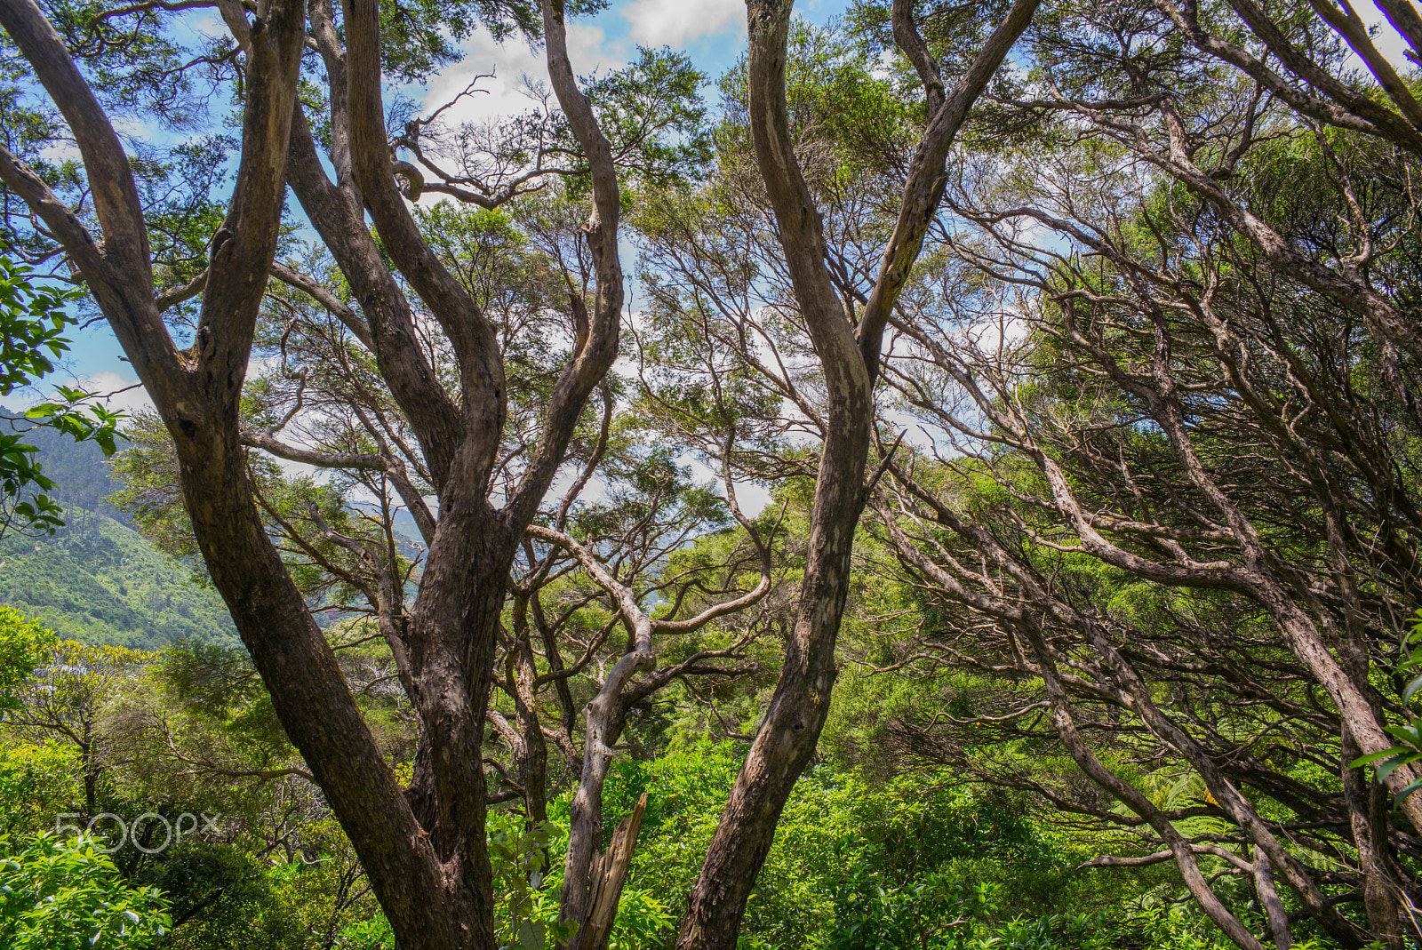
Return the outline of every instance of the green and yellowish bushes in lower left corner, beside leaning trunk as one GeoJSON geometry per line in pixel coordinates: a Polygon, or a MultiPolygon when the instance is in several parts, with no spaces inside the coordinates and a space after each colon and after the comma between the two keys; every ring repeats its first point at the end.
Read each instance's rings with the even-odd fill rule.
{"type": "Polygon", "coordinates": [[[13,929],[0,946],[77,947],[95,934],[94,946],[135,950],[158,939],[172,950],[358,946],[340,934],[370,930],[374,897],[314,788],[273,782],[273,769],[299,758],[240,650],[183,643],[155,663],[115,646],[53,643],[16,612],[3,619],[10,636],[0,643],[18,644],[17,670],[33,671],[0,721],[0,840],[11,862],[0,877],[24,887],[0,897],[10,900],[0,923],[13,929]],[[43,833],[57,815],[82,812],[70,823],[84,826],[100,811],[131,826],[145,812],[216,813],[220,831],[189,826],[169,846],[148,822],[159,828],[145,839],[151,852],[111,840],[112,858],[102,842],[43,833]]]}

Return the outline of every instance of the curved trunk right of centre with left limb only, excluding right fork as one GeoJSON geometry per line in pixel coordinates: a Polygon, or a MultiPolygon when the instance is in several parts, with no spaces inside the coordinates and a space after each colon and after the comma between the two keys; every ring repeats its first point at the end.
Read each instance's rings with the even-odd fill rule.
{"type": "Polygon", "coordinates": [[[825,725],[835,685],[835,639],[849,593],[855,526],[865,506],[872,384],[852,324],[825,270],[820,216],[795,162],[785,104],[789,0],[752,0],[751,128],[795,296],[825,368],[828,432],[811,512],[799,609],[775,695],[721,813],[691,890],[677,946],[734,947],[745,902],[775,825],[825,725]]]}

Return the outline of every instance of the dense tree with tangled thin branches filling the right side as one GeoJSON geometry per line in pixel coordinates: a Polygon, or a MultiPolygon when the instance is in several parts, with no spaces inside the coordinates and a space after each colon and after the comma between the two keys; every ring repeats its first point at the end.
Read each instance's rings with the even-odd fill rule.
{"type": "MultiPolygon", "coordinates": [[[[948,732],[1034,734],[1018,722],[1047,708],[1129,815],[997,781],[1149,826],[1153,850],[1095,866],[1173,860],[1241,947],[1288,946],[1301,920],[1341,946],[1404,946],[1422,812],[1401,796],[1392,815],[1355,761],[1411,715],[1401,680],[1375,673],[1416,609],[1418,354],[1396,316],[1416,279],[1409,94],[1340,27],[1381,92],[1345,88],[1328,10],[1231,7],[1234,37],[1325,98],[1194,9],[1084,4],[1042,24],[1041,95],[1004,104],[1044,119],[1044,146],[953,192],[975,230],[944,242],[890,370],[931,441],[890,462],[879,515],[941,610],[930,654],[1041,678],[948,732]],[[1203,804],[1148,794],[1162,776],[1140,765],[1166,759],[1203,804]],[[1250,882],[1263,919],[1206,865],[1250,882]],[[1365,924],[1340,910],[1352,902],[1365,924]]],[[[900,734],[954,742],[921,721],[900,734]]],[[[1385,775],[1392,792],[1411,781],[1385,775]]]]}

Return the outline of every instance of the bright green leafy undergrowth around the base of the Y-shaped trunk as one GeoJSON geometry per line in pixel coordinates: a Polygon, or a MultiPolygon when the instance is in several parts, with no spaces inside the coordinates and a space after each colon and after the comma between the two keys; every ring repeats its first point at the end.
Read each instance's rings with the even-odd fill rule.
{"type": "MultiPolygon", "coordinates": [[[[661,755],[623,759],[609,778],[609,825],[641,792],[647,812],[629,895],[684,896],[701,869],[744,748],[674,735],[661,755]]],[[[961,782],[951,769],[882,782],[823,762],[796,784],[751,895],[742,946],[836,950],[1203,950],[1220,944],[1199,916],[1150,899],[1155,879],[1076,872],[1095,853],[1045,823],[1025,799],[961,782]]],[[[633,897],[636,900],[636,897],[633,897]]],[[[665,909],[637,947],[671,947],[681,909],[665,909]]],[[[624,920],[626,919],[626,920],[624,920]]]]}

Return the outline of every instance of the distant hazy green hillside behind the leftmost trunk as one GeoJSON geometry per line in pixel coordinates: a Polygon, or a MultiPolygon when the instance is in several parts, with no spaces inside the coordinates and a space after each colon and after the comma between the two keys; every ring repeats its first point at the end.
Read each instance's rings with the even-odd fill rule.
{"type": "Polygon", "coordinates": [[[90,643],[155,650],[186,637],[237,641],[218,593],[104,502],[119,485],[97,445],[44,428],[30,442],[57,484],[65,526],[53,538],[0,536],[0,603],[90,643]]]}

